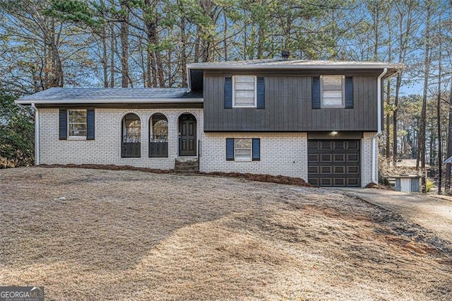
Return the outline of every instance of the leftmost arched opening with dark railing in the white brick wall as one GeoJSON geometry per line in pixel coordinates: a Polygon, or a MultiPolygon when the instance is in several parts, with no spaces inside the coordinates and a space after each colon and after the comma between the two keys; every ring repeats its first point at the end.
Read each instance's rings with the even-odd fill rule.
{"type": "Polygon", "coordinates": [[[129,113],[122,119],[122,158],[141,157],[141,122],[136,114],[129,113]]]}

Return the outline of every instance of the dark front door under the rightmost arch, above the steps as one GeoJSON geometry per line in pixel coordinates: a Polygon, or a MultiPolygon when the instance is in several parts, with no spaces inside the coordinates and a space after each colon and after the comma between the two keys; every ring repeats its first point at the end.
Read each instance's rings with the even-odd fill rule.
{"type": "Polygon", "coordinates": [[[179,155],[196,155],[196,118],[192,114],[179,117],[179,155]]]}

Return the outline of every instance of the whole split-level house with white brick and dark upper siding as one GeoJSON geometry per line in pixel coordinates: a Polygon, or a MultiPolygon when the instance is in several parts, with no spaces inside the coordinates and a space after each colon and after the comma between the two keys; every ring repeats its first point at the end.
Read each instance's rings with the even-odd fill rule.
{"type": "Polygon", "coordinates": [[[51,88],[35,108],[36,165],[133,165],[377,182],[381,62],[266,59],[189,64],[188,88],[51,88]]]}

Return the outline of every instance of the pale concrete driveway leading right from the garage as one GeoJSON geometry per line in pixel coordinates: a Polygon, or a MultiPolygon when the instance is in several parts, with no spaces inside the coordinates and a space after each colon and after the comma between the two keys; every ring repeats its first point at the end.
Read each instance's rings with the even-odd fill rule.
{"type": "Polygon", "coordinates": [[[452,201],[426,194],[383,189],[340,189],[364,201],[381,206],[432,230],[438,237],[452,242],[452,201]]]}

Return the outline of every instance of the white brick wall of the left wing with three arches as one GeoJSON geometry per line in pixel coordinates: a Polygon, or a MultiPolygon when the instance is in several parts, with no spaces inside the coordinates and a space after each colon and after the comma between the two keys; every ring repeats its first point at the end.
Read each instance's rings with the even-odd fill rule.
{"type": "Polygon", "coordinates": [[[114,164],[159,169],[174,168],[178,153],[178,118],[194,114],[198,139],[203,132],[202,109],[95,109],[95,140],[59,140],[58,109],[40,109],[41,164],[114,164]],[[127,113],[141,119],[141,158],[121,158],[121,120],[127,113]],[[168,119],[168,158],[148,158],[149,119],[162,113],[168,119]]]}

